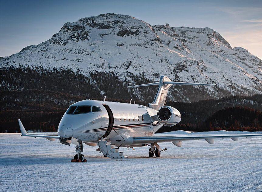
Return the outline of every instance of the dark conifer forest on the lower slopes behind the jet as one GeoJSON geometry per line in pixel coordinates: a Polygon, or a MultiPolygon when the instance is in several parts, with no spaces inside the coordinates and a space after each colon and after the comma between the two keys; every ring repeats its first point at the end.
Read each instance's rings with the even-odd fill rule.
{"type": "MultiPolygon", "coordinates": [[[[129,79],[136,84],[152,82],[131,73],[129,79]]],[[[123,83],[114,73],[93,71],[90,76],[84,76],[70,69],[3,68],[0,84],[1,132],[19,131],[17,119],[21,119],[27,129],[55,132],[68,106],[86,98],[102,100],[106,95],[107,101],[129,102],[132,99],[142,105],[153,101],[157,87],[136,90],[129,89],[128,83],[130,82],[123,83]],[[139,99],[141,95],[143,97],[139,99]]],[[[180,87],[176,87],[170,90],[179,92],[179,89],[180,87]]],[[[174,127],[162,127],[159,132],[221,129],[261,131],[262,95],[231,96],[215,100],[206,94],[201,95],[201,90],[193,86],[183,88],[183,91],[186,95],[192,95],[191,97],[198,95],[208,100],[192,103],[167,102],[167,105],[181,112],[182,120],[174,127]],[[221,113],[232,114],[232,118],[221,116],[221,113]],[[250,118],[245,119],[246,116],[250,118]]]]}

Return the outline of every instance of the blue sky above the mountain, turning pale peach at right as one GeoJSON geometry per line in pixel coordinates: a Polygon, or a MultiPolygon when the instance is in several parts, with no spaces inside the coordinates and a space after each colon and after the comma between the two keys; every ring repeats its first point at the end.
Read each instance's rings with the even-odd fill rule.
{"type": "Polygon", "coordinates": [[[209,27],[232,47],[262,59],[262,0],[222,1],[0,1],[0,55],[50,39],[66,22],[101,13],[134,16],[151,25],[209,27]]]}

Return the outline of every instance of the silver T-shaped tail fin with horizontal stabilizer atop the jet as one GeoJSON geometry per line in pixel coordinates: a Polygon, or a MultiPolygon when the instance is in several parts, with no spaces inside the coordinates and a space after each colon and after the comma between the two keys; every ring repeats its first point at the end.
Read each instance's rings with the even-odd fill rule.
{"type": "Polygon", "coordinates": [[[148,104],[148,107],[158,110],[160,107],[164,106],[166,103],[168,89],[172,85],[215,85],[215,84],[203,84],[203,83],[185,83],[185,82],[174,82],[171,81],[167,76],[161,76],[159,82],[142,84],[142,85],[133,85],[131,87],[142,87],[158,85],[157,93],[155,95],[154,101],[148,104]]]}

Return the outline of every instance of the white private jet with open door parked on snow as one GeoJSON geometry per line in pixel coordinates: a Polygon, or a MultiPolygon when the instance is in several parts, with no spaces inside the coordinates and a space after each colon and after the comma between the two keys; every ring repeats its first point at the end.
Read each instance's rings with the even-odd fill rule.
{"type": "Polygon", "coordinates": [[[76,145],[77,154],[74,159],[84,161],[83,143],[92,147],[105,157],[123,159],[127,156],[119,151],[119,147],[134,148],[149,146],[149,157],[160,157],[162,149],[159,144],[172,142],[181,147],[186,140],[206,140],[214,143],[216,138],[262,136],[262,134],[210,134],[210,135],[154,135],[161,126],[174,126],[181,121],[180,112],[165,105],[168,89],[172,85],[214,86],[215,84],[173,82],[167,76],[161,76],[159,82],[134,85],[132,87],[158,85],[152,103],[147,106],[134,103],[96,101],[86,99],[69,106],[60,120],[57,134],[27,133],[20,119],[18,120],[22,136],[43,137],[50,141],[60,140],[61,144],[76,145]]]}

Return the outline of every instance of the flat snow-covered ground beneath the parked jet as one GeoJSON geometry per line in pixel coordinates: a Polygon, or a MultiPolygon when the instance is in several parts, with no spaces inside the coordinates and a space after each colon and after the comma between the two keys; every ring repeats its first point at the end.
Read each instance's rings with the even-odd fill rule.
{"type": "Polygon", "coordinates": [[[160,144],[160,158],[122,148],[118,161],[84,145],[87,162],[71,163],[74,145],[0,135],[0,191],[262,191],[262,137],[160,144]]]}

